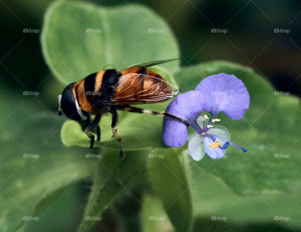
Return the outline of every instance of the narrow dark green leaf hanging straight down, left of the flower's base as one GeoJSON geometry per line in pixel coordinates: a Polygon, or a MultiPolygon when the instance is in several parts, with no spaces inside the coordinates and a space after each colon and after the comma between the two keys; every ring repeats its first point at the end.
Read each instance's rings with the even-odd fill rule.
{"type": "Polygon", "coordinates": [[[191,197],[177,150],[157,150],[158,154],[152,154],[154,157],[150,158],[150,183],[164,208],[163,212],[153,216],[163,217],[161,214],[166,212],[177,231],[189,231],[192,219],[191,197]]]}

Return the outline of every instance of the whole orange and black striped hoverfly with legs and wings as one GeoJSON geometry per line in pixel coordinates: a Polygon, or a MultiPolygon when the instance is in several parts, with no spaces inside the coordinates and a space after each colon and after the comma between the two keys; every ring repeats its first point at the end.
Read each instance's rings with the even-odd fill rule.
{"type": "Polygon", "coordinates": [[[113,136],[119,141],[119,158],[124,158],[121,138],[116,131],[118,121],[116,110],[167,116],[189,126],[189,122],[185,119],[171,113],[150,111],[129,105],[164,102],[177,95],[179,92],[177,87],[166,82],[158,73],[147,69],[173,60],[176,59],[142,63],[122,71],[107,69],[92,73],[79,82],[73,82],[59,95],[59,115],[64,112],[70,119],[85,120],[87,126],[85,132],[90,138],[92,149],[95,136],[89,132],[96,127],[97,141],[99,141],[99,121],[103,114],[112,113],[111,130],[113,136]],[[96,115],[92,123],[89,114],[96,115]]]}

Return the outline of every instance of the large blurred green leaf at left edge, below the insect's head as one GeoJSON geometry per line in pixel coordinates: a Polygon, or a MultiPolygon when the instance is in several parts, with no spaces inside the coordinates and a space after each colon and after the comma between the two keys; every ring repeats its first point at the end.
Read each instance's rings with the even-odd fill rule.
{"type": "MultiPolygon", "coordinates": [[[[0,162],[3,164],[0,231],[18,231],[26,222],[23,217],[32,214],[34,205],[61,186],[89,178],[90,170],[95,167],[92,160],[86,158],[87,149],[66,148],[61,143],[59,129],[64,119],[51,110],[42,94],[29,96],[23,95],[23,91],[15,90],[12,98],[12,90],[0,84],[0,103],[6,109],[0,115],[0,162]]],[[[70,194],[68,207],[78,206],[72,199],[76,196],[70,194]]],[[[53,200],[41,207],[40,213],[50,207],[53,200]]],[[[49,220],[49,215],[46,217],[40,220],[49,220]]],[[[37,224],[35,226],[39,230],[37,224]]]]}

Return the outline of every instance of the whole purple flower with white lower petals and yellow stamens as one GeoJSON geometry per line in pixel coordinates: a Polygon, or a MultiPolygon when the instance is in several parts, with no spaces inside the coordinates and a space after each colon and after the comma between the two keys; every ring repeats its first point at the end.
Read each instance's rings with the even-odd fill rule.
{"type": "MultiPolygon", "coordinates": [[[[220,73],[204,78],[195,91],[175,98],[166,108],[166,112],[186,119],[196,131],[188,142],[188,151],[194,160],[202,159],[205,153],[211,158],[220,159],[229,144],[243,152],[247,149],[229,141],[230,132],[227,128],[214,125],[220,121],[216,118],[217,114],[222,111],[231,119],[241,119],[249,108],[249,103],[250,97],[244,83],[234,75],[220,73]],[[209,112],[211,119],[206,114],[199,116],[202,111],[209,112]]],[[[185,124],[164,117],[162,139],[167,146],[182,146],[187,138],[185,124]]]]}

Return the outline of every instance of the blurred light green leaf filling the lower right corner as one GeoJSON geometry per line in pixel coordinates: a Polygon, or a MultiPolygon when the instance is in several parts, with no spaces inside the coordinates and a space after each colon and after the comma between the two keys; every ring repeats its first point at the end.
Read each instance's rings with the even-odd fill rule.
{"type": "MultiPolygon", "coordinates": [[[[184,152],[187,164],[190,166],[188,174],[188,183],[192,195],[194,224],[199,224],[200,220],[214,227],[227,229],[219,223],[226,225],[248,225],[248,224],[282,224],[287,227],[290,225],[294,229],[300,230],[299,212],[301,205],[300,191],[290,193],[281,193],[278,191],[265,191],[252,194],[250,189],[245,195],[235,194],[229,185],[225,184],[220,176],[210,173],[211,166],[201,168],[197,162],[191,159],[188,152],[184,152]],[[227,217],[222,220],[212,221],[211,217],[227,217]],[[275,221],[275,216],[290,217],[288,221],[275,221]]],[[[196,227],[198,228],[198,227],[196,227]]],[[[205,227],[206,228],[206,227],[205,227]]],[[[232,229],[232,226],[230,227],[232,229]]],[[[233,229],[232,229],[233,230],[233,229]]],[[[198,231],[198,229],[193,230],[198,231]]],[[[297,230],[296,230],[297,231],[297,230]]]]}

